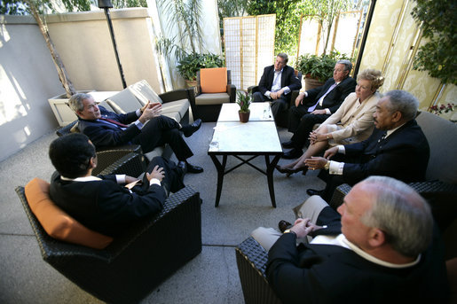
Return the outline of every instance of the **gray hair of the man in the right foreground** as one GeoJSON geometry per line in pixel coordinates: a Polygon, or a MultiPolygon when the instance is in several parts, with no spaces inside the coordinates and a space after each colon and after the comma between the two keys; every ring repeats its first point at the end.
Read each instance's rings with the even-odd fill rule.
{"type": "Polygon", "coordinates": [[[370,176],[362,183],[375,186],[371,210],[360,221],[384,231],[387,242],[405,256],[415,257],[427,249],[432,238],[430,207],[413,188],[388,176],[370,176]]]}

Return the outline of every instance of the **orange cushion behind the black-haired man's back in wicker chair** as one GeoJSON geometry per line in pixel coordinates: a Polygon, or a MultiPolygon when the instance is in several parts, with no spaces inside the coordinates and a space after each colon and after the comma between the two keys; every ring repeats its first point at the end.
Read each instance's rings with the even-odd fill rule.
{"type": "Polygon", "coordinates": [[[51,238],[95,249],[111,244],[113,238],[84,227],[55,205],[49,197],[49,187],[49,183],[35,177],[26,185],[25,192],[28,206],[51,238]]]}

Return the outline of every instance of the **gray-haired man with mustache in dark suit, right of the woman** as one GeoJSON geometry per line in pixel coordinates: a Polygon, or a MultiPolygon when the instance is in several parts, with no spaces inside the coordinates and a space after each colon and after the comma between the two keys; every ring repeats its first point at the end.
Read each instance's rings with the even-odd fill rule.
{"type": "Polygon", "coordinates": [[[385,175],[405,183],[422,182],[429,163],[429,143],[414,120],[419,102],[405,90],[390,90],[376,105],[370,137],[356,144],[337,145],[324,157],[304,161],[308,168],[322,169],[324,191],[308,189],[329,201],[342,183],[353,185],[369,175],[385,175]]]}

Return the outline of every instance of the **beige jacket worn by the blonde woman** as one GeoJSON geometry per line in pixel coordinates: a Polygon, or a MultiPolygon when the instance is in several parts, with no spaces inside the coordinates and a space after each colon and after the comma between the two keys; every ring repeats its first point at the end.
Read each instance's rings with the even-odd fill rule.
{"type": "Polygon", "coordinates": [[[353,143],[365,140],[373,133],[373,113],[376,111],[379,98],[381,98],[380,94],[374,92],[360,104],[356,93],[351,93],[344,99],[338,110],[320,124],[319,128],[328,124],[341,124],[343,129],[332,132],[336,143],[349,137],[354,139],[353,143]]]}

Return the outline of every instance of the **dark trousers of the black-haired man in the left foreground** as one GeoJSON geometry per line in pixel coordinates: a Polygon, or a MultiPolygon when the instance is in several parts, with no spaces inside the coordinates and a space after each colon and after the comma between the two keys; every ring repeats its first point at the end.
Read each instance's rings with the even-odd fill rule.
{"type": "MultiPolygon", "coordinates": [[[[155,166],[159,166],[159,168],[163,168],[165,171],[165,176],[163,177],[161,183],[162,186],[165,187],[167,193],[169,193],[169,191],[174,193],[185,187],[183,183],[184,170],[182,168],[178,168],[173,161],[164,159],[162,156],[156,156],[147,165],[146,172],[153,172],[155,166]]],[[[145,173],[145,176],[143,177],[142,190],[146,191],[148,187],[149,181],[147,180],[145,173]]]]}

